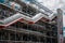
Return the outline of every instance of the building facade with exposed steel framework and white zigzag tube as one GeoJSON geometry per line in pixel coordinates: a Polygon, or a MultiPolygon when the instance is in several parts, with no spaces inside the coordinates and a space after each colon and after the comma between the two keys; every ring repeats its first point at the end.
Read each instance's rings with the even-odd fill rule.
{"type": "Polygon", "coordinates": [[[0,42],[57,43],[56,13],[35,0],[0,1],[0,42]]]}

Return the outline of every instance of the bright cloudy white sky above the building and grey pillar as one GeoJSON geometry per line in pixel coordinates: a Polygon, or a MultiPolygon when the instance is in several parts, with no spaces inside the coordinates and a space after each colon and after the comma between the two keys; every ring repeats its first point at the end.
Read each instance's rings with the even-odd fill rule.
{"type": "Polygon", "coordinates": [[[38,1],[51,10],[63,8],[65,5],[65,0],[38,0],[38,1]]]}

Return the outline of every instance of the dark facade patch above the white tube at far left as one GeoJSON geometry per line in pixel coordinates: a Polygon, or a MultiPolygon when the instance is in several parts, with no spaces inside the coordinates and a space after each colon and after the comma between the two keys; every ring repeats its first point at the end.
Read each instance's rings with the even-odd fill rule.
{"type": "Polygon", "coordinates": [[[0,6],[0,19],[5,19],[12,15],[14,15],[15,12],[6,6],[1,5],[0,6]]]}

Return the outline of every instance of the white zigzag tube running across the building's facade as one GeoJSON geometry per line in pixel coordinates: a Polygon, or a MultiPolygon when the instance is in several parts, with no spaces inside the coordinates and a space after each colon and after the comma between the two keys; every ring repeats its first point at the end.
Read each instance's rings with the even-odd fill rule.
{"type": "MultiPolygon", "coordinates": [[[[6,4],[4,4],[4,3],[0,3],[0,4],[10,8],[9,5],[6,5],[6,4]]],[[[10,9],[12,9],[12,8],[10,8],[10,9]]],[[[13,9],[13,10],[18,11],[18,10],[16,10],[16,9],[13,9]]],[[[13,15],[13,16],[11,16],[11,17],[8,17],[6,19],[0,20],[0,23],[1,23],[0,25],[2,25],[2,26],[4,26],[4,25],[5,25],[5,26],[9,26],[9,25],[11,25],[11,24],[20,20],[21,18],[24,18],[25,20],[28,20],[28,22],[36,23],[36,22],[38,22],[39,19],[41,19],[42,17],[44,17],[44,18],[47,18],[47,19],[49,19],[49,20],[52,20],[52,19],[55,17],[55,14],[52,14],[51,16],[47,16],[46,13],[43,13],[43,14],[42,14],[42,13],[39,13],[39,14],[36,14],[35,16],[32,16],[32,17],[29,17],[29,16],[24,15],[24,14],[22,13],[22,11],[18,11],[17,14],[15,14],[15,15],[13,15]],[[20,12],[21,12],[21,13],[20,13],[20,12]],[[15,17],[15,16],[17,16],[18,18],[15,17]],[[13,17],[14,19],[12,19],[12,17],[13,17]]]]}

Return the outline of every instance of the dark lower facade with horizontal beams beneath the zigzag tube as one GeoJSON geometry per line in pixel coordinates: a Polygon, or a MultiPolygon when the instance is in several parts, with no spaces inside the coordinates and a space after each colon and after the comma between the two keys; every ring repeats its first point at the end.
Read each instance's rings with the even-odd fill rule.
{"type": "Polygon", "coordinates": [[[42,23],[41,25],[28,25],[16,23],[0,30],[0,41],[2,43],[57,43],[57,27],[42,23]]]}

